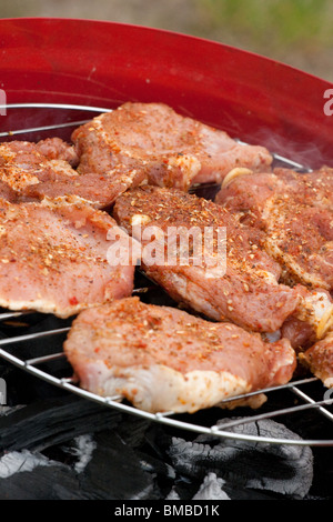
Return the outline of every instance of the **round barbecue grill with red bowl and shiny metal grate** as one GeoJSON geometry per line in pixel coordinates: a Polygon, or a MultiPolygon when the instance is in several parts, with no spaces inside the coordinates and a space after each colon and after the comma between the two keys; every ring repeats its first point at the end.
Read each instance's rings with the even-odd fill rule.
{"type": "MultiPolygon", "coordinates": [[[[111,22],[8,19],[0,21],[0,87],[7,98],[0,107],[3,141],[52,135],[69,140],[75,127],[125,101],[161,101],[241,143],[266,147],[276,164],[310,171],[333,163],[332,122],[324,112],[324,96],[332,86],[285,64],[194,37],[111,22]]],[[[194,190],[212,198],[218,187],[194,190]]],[[[134,293],[145,302],[169,304],[163,291],[140,272],[134,293]]],[[[102,398],[78,385],[62,352],[70,320],[44,321],[33,311],[2,310],[0,322],[0,357],[6,363],[133,422],[139,418],[176,433],[240,442],[333,445],[333,393],[309,374],[265,390],[268,402],[259,411],[242,409],[236,418],[219,409],[151,414],[120,396],[102,398]],[[233,430],[266,419],[301,433],[279,438],[233,430]]]]}

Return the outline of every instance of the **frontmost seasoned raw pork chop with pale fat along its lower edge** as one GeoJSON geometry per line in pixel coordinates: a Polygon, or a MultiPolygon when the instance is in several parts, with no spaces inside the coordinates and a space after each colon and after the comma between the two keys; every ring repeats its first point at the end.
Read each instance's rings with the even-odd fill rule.
{"type": "Polygon", "coordinates": [[[234,324],[212,323],[138,298],[85,310],[64,352],[80,385],[120,394],[150,412],[195,412],[287,382],[295,353],[286,340],[264,343],[234,324]]]}

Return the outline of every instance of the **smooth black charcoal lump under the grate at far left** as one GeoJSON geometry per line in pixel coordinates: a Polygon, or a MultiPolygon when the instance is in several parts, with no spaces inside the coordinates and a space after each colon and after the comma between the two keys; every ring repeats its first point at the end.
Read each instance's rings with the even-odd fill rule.
{"type": "Polygon", "coordinates": [[[120,421],[115,410],[75,395],[36,400],[0,416],[0,451],[41,451],[80,434],[113,428],[120,421]]]}

